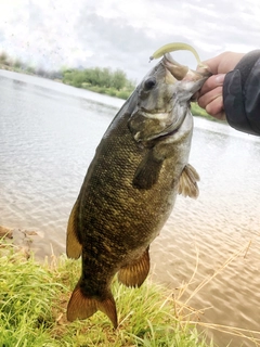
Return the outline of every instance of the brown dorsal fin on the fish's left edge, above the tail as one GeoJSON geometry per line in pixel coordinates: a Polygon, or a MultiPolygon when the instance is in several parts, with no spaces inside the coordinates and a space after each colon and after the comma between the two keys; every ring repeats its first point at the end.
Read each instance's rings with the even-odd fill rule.
{"type": "Polygon", "coordinates": [[[69,258],[78,259],[82,253],[82,245],[77,235],[77,216],[78,216],[78,201],[75,203],[70,213],[67,224],[67,242],[66,253],[69,258]]]}

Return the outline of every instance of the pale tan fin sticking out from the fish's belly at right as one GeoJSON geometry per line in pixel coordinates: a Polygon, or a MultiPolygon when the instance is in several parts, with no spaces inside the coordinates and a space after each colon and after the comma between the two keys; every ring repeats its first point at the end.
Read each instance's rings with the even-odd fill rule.
{"type": "Polygon", "coordinates": [[[199,181],[199,176],[195,168],[187,164],[180,177],[179,181],[179,194],[182,194],[183,196],[190,196],[192,198],[198,197],[198,187],[197,181],[199,181]]]}

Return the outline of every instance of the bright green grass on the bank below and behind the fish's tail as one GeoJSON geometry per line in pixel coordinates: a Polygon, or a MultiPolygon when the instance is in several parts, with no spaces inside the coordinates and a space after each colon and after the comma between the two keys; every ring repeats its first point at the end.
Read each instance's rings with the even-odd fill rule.
{"type": "Polygon", "coordinates": [[[80,260],[65,256],[39,265],[0,240],[0,346],[209,346],[196,324],[177,318],[172,295],[150,281],[141,288],[114,281],[116,331],[102,312],[67,322],[66,306],[80,268],[80,260]]]}

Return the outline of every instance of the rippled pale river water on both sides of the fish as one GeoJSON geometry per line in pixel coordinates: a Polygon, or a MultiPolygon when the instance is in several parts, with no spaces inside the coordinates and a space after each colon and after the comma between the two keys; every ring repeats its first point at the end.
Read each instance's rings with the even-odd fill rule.
{"type": "MultiPolygon", "coordinates": [[[[41,232],[38,255],[50,254],[50,244],[55,254],[65,252],[68,214],[121,104],[58,82],[0,72],[0,224],[41,232]]],[[[195,118],[190,163],[200,175],[200,195],[197,201],[178,197],[152,245],[152,278],[181,287],[198,259],[188,294],[244,249],[187,304],[205,310],[203,322],[259,330],[260,141],[195,118]]],[[[231,346],[255,346],[216,331],[209,336],[211,332],[220,346],[231,338],[231,346]]]]}

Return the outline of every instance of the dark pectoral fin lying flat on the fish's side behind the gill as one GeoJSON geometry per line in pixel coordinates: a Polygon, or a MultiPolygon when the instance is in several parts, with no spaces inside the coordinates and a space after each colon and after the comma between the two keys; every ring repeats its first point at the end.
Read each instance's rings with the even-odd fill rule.
{"type": "Polygon", "coordinates": [[[133,187],[138,189],[151,189],[159,178],[164,160],[156,159],[150,151],[136,168],[133,187]]]}

